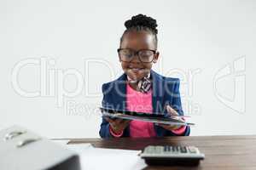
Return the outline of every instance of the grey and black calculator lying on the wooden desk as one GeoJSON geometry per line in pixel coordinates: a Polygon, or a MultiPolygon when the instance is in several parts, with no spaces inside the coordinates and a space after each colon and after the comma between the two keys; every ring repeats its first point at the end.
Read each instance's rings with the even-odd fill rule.
{"type": "Polygon", "coordinates": [[[148,165],[197,166],[205,158],[195,146],[149,145],[140,154],[148,165]]]}

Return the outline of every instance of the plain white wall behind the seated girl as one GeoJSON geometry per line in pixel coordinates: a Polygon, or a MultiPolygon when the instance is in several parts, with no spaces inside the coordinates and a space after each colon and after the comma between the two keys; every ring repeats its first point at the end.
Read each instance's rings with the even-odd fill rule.
{"type": "Polygon", "coordinates": [[[196,123],[191,135],[255,134],[255,8],[253,0],[2,0],[0,128],[99,137],[95,109],[102,83],[121,74],[124,21],[143,13],[159,24],[154,70],[182,79],[184,111],[196,123]]]}

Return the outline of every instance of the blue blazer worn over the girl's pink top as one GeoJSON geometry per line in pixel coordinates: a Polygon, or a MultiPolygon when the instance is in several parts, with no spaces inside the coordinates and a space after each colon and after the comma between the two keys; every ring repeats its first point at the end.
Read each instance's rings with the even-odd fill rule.
{"type": "MultiPolygon", "coordinates": [[[[169,114],[166,111],[166,105],[171,105],[179,115],[183,115],[180,93],[179,93],[179,79],[171,77],[163,77],[154,71],[150,71],[153,80],[153,93],[152,93],[152,107],[154,113],[169,114]]],[[[126,108],[126,81],[127,76],[123,74],[113,82],[104,83],[102,85],[102,107],[113,108],[116,110],[125,110],[126,108]]],[[[163,127],[154,124],[154,130],[157,137],[164,136],[177,136],[172,131],[166,130],[163,127]]],[[[112,137],[109,132],[109,123],[102,118],[100,129],[100,136],[102,138],[112,137]]],[[[190,128],[186,127],[183,134],[179,136],[189,136],[190,128]]],[[[122,137],[130,136],[130,127],[126,127],[122,137]]]]}

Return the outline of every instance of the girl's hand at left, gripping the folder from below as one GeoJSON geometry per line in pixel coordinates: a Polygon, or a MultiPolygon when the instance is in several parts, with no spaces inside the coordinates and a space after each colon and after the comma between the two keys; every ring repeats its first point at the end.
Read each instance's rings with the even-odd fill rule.
{"type": "Polygon", "coordinates": [[[125,119],[110,119],[108,117],[105,118],[106,121],[109,122],[112,130],[114,133],[122,133],[123,130],[125,130],[125,127],[129,125],[131,122],[130,120],[125,120],[125,119]]]}

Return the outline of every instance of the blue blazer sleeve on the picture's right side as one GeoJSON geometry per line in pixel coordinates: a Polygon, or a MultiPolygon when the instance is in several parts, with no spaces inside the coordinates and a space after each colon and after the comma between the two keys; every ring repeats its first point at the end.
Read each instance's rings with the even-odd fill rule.
{"type": "MultiPolygon", "coordinates": [[[[172,81],[170,83],[171,86],[169,86],[169,88],[172,89],[172,93],[169,96],[170,97],[169,101],[171,101],[172,108],[175,111],[177,111],[177,113],[180,116],[183,116],[183,108],[182,108],[182,102],[181,102],[180,91],[179,91],[180,80],[175,78],[171,81],[172,81]]],[[[189,133],[190,133],[190,127],[187,126],[184,133],[176,134],[176,133],[172,133],[172,131],[168,131],[166,133],[166,136],[189,136],[189,133]]]]}

